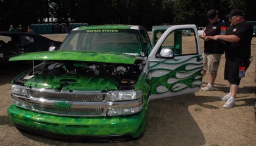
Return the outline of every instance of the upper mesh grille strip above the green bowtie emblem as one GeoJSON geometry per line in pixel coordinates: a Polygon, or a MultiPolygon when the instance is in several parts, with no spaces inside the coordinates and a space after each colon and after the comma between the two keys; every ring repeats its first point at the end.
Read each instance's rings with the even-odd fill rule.
{"type": "Polygon", "coordinates": [[[53,92],[53,91],[39,91],[27,90],[30,97],[46,100],[63,100],[69,102],[102,102],[105,98],[104,94],[85,94],[76,92],[53,92]]]}

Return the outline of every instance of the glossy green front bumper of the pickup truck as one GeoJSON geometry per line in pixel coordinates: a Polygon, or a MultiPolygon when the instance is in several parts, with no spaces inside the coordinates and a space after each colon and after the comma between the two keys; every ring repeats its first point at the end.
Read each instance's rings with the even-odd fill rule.
{"type": "MultiPolygon", "coordinates": [[[[8,108],[10,121],[18,128],[36,133],[66,136],[139,138],[145,130],[148,107],[130,116],[65,117],[36,113],[12,105],[8,108]],[[43,133],[42,133],[43,131],[43,133]]],[[[50,136],[51,137],[51,136],[50,136]]]]}

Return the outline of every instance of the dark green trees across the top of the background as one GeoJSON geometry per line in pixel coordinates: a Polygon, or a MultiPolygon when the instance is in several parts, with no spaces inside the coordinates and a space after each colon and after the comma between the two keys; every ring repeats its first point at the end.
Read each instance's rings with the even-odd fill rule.
{"type": "Polygon", "coordinates": [[[0,30],[10,24],[51,23],[49,18],[57,18],[56,23],[138,24],[148,29],[161,24],[205,26],[210,9],[226,19],[238,8],[256,21],[255,5],[255,0],[1,0],[0,30]]]}

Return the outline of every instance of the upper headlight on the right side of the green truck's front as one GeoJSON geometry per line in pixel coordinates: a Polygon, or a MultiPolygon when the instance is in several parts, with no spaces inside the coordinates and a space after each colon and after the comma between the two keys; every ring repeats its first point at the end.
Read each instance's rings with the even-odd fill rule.
{"type": "Polygon", "coordinates": [[[123,100],[135,100],[141,98],[140,91],[128,90],[128,91],[109,91],[107,93],[108,101],[123,101],[123,100]]]}

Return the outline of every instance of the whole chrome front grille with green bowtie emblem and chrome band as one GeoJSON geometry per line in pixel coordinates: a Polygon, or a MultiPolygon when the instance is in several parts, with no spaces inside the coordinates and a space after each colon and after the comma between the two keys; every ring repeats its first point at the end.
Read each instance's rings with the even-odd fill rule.
{"type": "Polygon", "coordinates": [[[139,99],[114,102],[108,101],[108,92],[101,91],[69,92],[44,88],[26,88],[26,91],[23,95],[12,93],[18,107],[58,116],[107,116],[109,109],[130,108],[142,104],[140,91],[139,99]]]}

